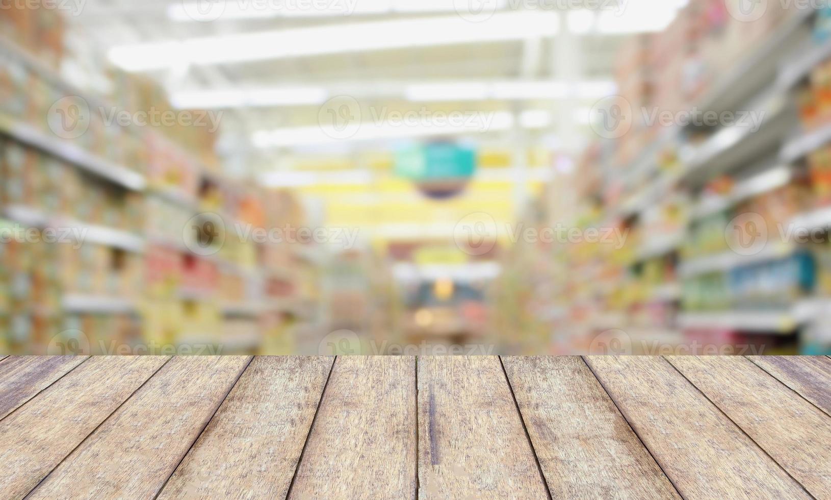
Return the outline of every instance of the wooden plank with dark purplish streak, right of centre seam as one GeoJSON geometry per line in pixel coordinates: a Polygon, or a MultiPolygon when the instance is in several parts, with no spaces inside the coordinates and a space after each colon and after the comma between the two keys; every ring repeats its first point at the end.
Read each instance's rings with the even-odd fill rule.
{"type": "Polygon", "coordinates": [[[418,360],[420,498],[547,498],[499,358],[418,360]]]}

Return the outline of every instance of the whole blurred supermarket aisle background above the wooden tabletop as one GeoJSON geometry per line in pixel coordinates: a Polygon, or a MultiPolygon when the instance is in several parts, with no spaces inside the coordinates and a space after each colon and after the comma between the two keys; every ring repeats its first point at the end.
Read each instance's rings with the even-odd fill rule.
{"type": "Polygon", "coordinates": [[[816,0],[0,0],[0,354],[831,354],[816,0]]]}

